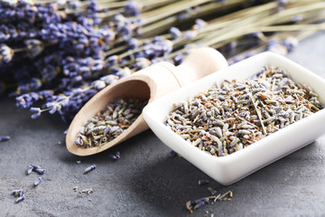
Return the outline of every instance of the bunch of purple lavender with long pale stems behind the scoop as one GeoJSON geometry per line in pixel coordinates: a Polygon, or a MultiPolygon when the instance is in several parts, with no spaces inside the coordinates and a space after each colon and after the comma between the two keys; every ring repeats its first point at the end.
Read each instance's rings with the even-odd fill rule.
{"type": "Polygon", "coordinates": [[[98,90],[154,62],[178,65],[195,46],[230,64],[285,55],[325,29],[324,9],[321,0],[3,0],[0,95],[32,118],[70,122],[98,90]]]}

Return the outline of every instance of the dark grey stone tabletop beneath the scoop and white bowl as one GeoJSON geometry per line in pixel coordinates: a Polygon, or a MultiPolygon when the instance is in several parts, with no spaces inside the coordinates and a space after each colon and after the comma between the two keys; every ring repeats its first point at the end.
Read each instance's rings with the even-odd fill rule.
{"type": "MultiPolygon", "coordinates": [[[[288,57],[325,78],[325,33],[312,35],[288,57]]],[[[306,78],[308,79],[308,78],[306,78]]],[[[68,127],[58,116],[32,120],[14,99],[0,99],[0,216],[321,216],[325,215],[325,136],[290,156],[224,186],[171,151],[151,130],[96,156],[73,156],[64,143],[68,127]],[[121,158],[108,156],[119,151],[121,158]],[[76,164],[81,161],[81,164],[76,164]],[[30,164],[47,171],[26,175],[30,164]],[[98,168],[87,175],[88,165],[98,168]],[[198,185],[198,180],[210,183],[198,185]],[[26,199],[14,203],[11,191],[24,187],[26,199]],[[75,192],[92,188],[95,192],[75,192]],[[232,201],[206,205],[193,214],[188,200],[233,191],[232,201]]],[[[324,127],[325,133],[325,127],[324,127]]]]}

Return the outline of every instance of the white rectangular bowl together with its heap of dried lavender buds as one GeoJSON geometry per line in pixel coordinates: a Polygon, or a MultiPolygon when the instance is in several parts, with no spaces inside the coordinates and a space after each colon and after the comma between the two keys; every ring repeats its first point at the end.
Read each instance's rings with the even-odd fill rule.
{"type": "Polygon", "coordinates": [[[163,143],[232,184],[320,137],[324,101],[325,80],[265,52],[148,104],[143,114],[163,143]]]}

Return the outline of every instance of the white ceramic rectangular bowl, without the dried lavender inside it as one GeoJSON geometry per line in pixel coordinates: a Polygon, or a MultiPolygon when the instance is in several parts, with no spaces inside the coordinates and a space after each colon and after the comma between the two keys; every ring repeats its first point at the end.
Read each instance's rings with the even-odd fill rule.
{"type": "Polygon", "coordinates": [[[199,148],[190,145],[163,122],[172,109],[172,104],[194,97],[201,90],[207,90],[216,82],[223,80],[246,80],[261,71],[263,66],[276,66],[284,69],[292,80],[307,84],[320,95],[320,102],[325,101],[325,80],[299,64],[272,52],[264,52],[245,61],[240,61],[228,68],[217,71],[203,79],[172,92],[161,99],[148,104],[143,111],[144,119],[164,144],[182,157],[196,165],[201,171],[211,176],[220,184],[232,184],[246,175],[269,165],[274,161],[289,155],[306,146],[325,133],[325,109],[303,118],[274,134],[264,137],[251,146],[228,156],[210,156],[199,148]]]}

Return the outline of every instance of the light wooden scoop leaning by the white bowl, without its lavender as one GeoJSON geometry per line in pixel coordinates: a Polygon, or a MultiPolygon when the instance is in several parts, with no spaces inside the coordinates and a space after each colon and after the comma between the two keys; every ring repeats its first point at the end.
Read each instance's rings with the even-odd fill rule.
{"type": "Polygon", "coordinates": [[[87,148],[75,145],[74,141],[79,130],[86,125],[88,118],[94,117],[99,111],[105,109],[112,99],[135,97],[149,99],[149,102],[152,102],[173,90],[186,86],[192,81],[199,80],[226,67],[228,67],[228,62],[222,54],[212,48],[200,47],[193,49],[178,67],[169,62],[158,62],[118,80],[116,83],[99,91],[73,118],[66,136],[68,150],[77,156],[94,155],[148,128],[141,114],[121,135],[106,145],[87,148]]]}

